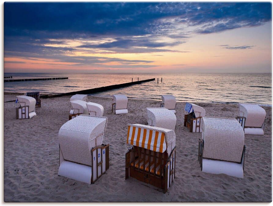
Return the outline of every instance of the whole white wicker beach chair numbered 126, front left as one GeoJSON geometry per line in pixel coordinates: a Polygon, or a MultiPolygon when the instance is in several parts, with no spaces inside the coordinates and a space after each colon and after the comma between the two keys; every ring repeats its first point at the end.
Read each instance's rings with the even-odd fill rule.
{"type": "Polygon", "coordinates": [[[102,144],[107,117],[79,115],[59,130],[58,175],[93,184],[109,168],[109,144],[102,144]]]}

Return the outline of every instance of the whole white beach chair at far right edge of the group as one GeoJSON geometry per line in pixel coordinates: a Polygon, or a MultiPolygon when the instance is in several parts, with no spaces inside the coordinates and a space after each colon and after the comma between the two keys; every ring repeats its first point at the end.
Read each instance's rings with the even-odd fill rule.
{"type": "Polygon", "coordinates": [[[264,135],[265,110],[256,104],[238,104],[240,117],[236,117],[245,135],[264,135]],[[245,118],[245,119],[244,119],[245,118]]]}

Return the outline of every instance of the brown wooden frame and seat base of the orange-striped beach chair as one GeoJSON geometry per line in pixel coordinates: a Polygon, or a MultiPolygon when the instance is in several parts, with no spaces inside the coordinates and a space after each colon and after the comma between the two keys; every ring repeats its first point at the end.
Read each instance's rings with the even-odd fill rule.
{"type": "Polygon", "coordinates": [[[175,152],[176,148],[172,150],[172,153],[168,157],[167,151],[164,153],[154,152],[142,147],[132,146],[131,149],[125,154],[125,179],[129,176],[133,177],[144,183],[151,184],[159,187],[167,192],[175,178],[175,152]],[[138,164],[139,160],[146,160],[146,165],[138,164]],[[155,159],[155,161],[151,161],[155,159]],[[157,162],[156,172],[154,169],[157,162]],[[151,169],[152,168],[152,169],[151,169]]]}

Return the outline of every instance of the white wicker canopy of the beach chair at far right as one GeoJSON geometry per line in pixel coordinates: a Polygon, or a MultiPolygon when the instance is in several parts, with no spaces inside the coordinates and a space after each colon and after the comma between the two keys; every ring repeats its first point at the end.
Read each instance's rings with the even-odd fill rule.
{"type": "Polygon", "coordinates": [[[240,116],[245,117],[245,127],[262,127],[266,112],[256,104],[238,104],[240,116]]]}

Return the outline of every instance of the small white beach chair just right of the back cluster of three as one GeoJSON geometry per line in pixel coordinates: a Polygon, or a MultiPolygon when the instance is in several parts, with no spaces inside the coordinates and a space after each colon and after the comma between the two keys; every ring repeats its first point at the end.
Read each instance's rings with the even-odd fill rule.
{"type": "Polygon", "coordinates": [[[114,114],[128,113],[128,98],[125,95],[113,95],[112,112],[114,114]]]}

